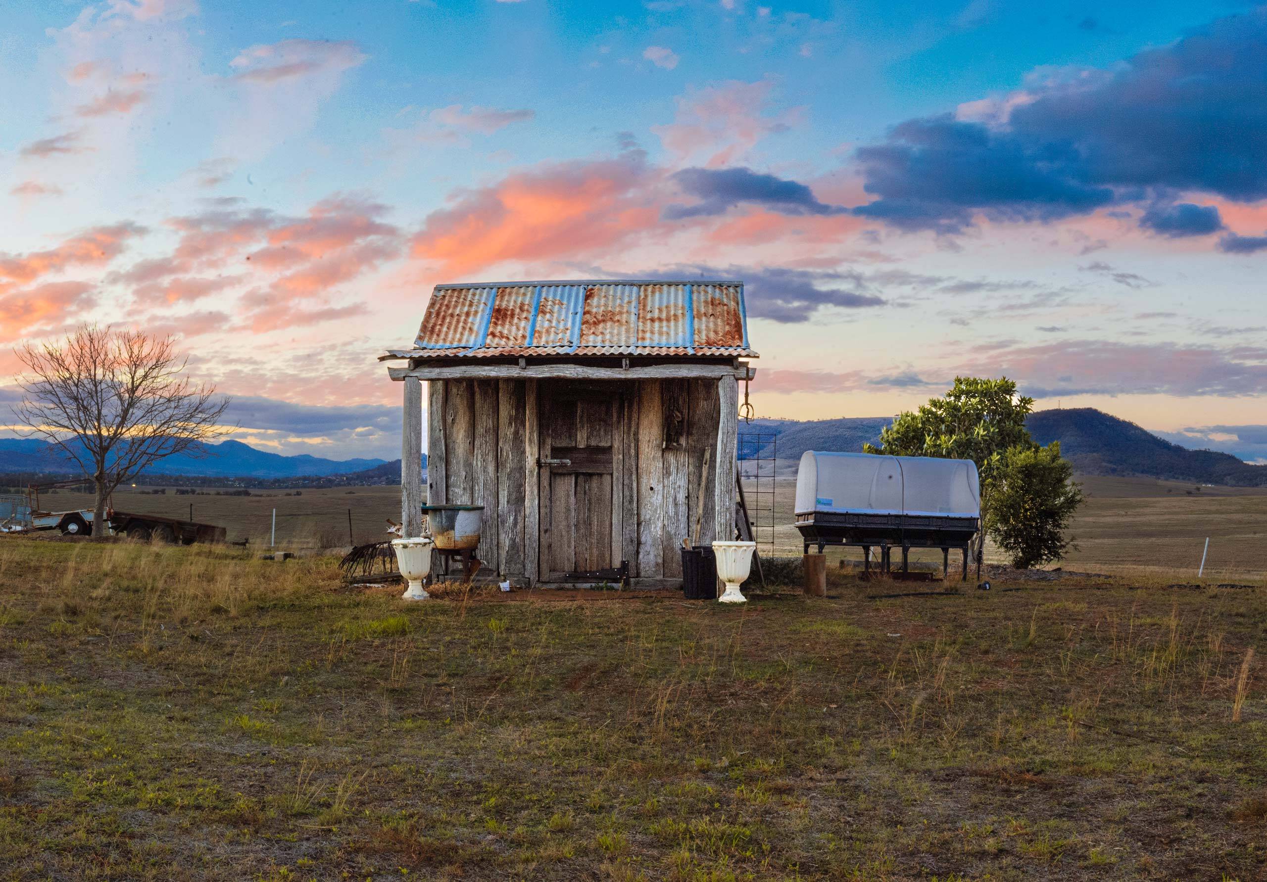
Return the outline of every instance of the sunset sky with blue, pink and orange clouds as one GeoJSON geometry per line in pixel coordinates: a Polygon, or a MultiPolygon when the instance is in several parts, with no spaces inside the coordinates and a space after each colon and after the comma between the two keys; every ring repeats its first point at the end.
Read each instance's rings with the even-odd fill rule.
{"type": "Polygon", "coordinates": [[[749,284],[763,416],[1007,373],[1257,457],[1252,5],[261,6],[6,5],[9,346],[177,333],[238,437],[392,456],[374,359],[432,285],[708,271],[749,284]]]}

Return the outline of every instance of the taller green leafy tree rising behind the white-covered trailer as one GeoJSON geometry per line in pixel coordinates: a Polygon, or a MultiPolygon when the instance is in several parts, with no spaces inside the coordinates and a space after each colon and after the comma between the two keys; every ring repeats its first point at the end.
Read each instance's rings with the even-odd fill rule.
{"type": "MultiPolygon", "coordinates": [[[[1025,428],[1025,418],[1033,409],[1034,399],[1017,394],[1016,383],[1006,376],[997,380],[957,376],[954,387],[945,395],[929,399],[929,403],[919,411],[900,414],[881,432],[878,446],[865,445],[863,450],[868,454],[971,459],[976,463],[981,476],[983,530],[977,537],[974,551],[979,551],[986,531],[990,531],[997,541],[1000,531],[1005,527],[995,517],[993,511],[997,498],[1007,488],[1009,451],[1045,450],[1034,442],[1025,428]]],[[[1064,463],[1059,447],[1055,449],[1054,456],[1057,461],[1064,463]]],[[[1045,506],[1040,508],[1047,511],[1045,506]]],[[[1077,503],[1073,508],[1077,508],[1077,503]]],[[[1067,523],[1068,517],[1060,522],[1059,528],[1063,531],[1067,523]]],[[[1063,553],[1064,547],[1062,546],[1059,551],[1063,553]]],[[[1039,555],[1039,558],[1036,563],[1058,560],[1059,553],[1055,556],[1039,555]]],[[[1014,555],[1014,563],[1020,559],[1031,560],[1028,555],[1021,558],[1014,555]]]]}

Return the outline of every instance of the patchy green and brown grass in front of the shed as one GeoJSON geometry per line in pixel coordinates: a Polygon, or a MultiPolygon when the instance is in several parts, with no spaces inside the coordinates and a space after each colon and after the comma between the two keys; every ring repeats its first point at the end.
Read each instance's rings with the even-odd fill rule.
{"type": "Polygon", "coordinates": [[[4,537],[0,878],[1262,874],[1262,588],[831,579],[407,604],[4,537]]]}

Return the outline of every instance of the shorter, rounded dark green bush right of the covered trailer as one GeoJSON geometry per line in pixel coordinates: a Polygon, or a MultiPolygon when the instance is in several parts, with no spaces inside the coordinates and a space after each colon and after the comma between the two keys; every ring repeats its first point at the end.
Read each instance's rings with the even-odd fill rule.
{"type": "Polygon", "coordinates": [[[1066,531],[1082,504],[1073,466],[1060,457],[1060,442],[1009,449],[995,471],[996,489],[986,530],[1012,566],[1059,560],[1071,540],[1066,531]]]}

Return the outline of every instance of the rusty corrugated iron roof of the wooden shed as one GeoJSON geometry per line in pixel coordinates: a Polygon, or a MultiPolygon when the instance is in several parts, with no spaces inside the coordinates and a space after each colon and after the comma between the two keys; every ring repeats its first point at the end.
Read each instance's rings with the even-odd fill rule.
{"type": "Polygon", "coordinates": [[[755,356],[741,281],[436,285],[412,350],[392,357],[755,356]]]}

